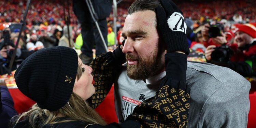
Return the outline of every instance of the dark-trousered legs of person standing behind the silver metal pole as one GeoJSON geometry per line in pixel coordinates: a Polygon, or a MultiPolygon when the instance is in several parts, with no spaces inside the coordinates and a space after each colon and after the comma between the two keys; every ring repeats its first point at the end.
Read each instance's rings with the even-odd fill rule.
{"type": "MultiPolygon", "coordinates": [[[[98,22],[100,31],[104,38],[106,45],[108,45],[108,26],[106,17],[109,17],[112,9],[111,0],[91,0],[95,13],[97,15],[96,20],[98,22]]],[[[93,60],[93,49],[96,45],[96,56],[106,53],[105,46],[100,37],[99,31],[95,26],[93,18],[90,15],[87,4],[84,0],[73,0],[73,11],[81,24],[81,33],[83,39],[83,46],[81,47],[82,55],[86,56],[81,58],[83,63],[89,64],[90,60],[93,60]],[[88,62],[85,62],[88,58],[88,62]]]]}

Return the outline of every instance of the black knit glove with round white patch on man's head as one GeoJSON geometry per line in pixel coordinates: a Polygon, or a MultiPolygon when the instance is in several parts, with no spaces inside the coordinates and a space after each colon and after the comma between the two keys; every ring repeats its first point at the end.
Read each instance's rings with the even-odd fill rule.
{"type": "Polygon", "coordinates": [[[187,25],[182,11],[171,0],[162,0],[161,5],[163,8],[156,8],[157,27],[159,37],[167,46],[167,52],[182,51],[188,55],[187,25]]]}

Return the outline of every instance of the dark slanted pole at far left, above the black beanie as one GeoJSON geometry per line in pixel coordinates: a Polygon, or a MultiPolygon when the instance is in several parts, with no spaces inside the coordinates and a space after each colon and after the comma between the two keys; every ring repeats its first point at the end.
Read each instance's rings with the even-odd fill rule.
{"type": "Polygon", "coordinates": [[[26,17],[27,17],[27,14],[28,14],[28,9],[29,9],[29,6],[30,6],[30,2],[31,2],[31,0],[28,0],[28,1],[27,1],[26,11],[25,11],[25,14],[24,14],[24,17],[23,17],[22,27],[20,28],[19,36],[18,36],[16,45],[15,45],[15,49],[14,49],[14,51],[13,51],[12,58],[11,58],[11,61],[10,61],[10,64],[9,64],[9,71],[8,71],[8,74],[9,74],[10,76],[12,76],[12,73],[11,73],[11,72],[12,72],[12,66],[13,66],[13,62],[14,62],[15,56],[16,56],[17,47],[18,47],[18,45],[19,45],[19,39],[20,39],[20,37],[21,37],[21,33],[22,33],[22,31],[23,31],[23,28],[24,28],[25,25],[26,25],[26,17]]]}

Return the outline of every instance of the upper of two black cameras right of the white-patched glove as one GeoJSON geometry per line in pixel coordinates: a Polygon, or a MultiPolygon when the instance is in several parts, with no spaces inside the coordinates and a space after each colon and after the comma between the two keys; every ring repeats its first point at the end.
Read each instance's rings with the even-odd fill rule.
{"type": "Polygon", "coordinates": [[[224,30],[224,25],[217,23],[215,25],[211,25],[208,30],[208,37],[215,38],[217,36],[221,36],[221,31],[224,30]]]}

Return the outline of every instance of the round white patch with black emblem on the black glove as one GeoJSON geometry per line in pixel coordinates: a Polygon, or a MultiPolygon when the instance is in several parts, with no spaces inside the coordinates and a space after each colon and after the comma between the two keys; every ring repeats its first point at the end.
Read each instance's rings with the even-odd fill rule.
{"type": "Polygon", "coordinates": [[[167,20],[167,23],[172,31],[181,31],[186,33],[187,25],[181,13],[174,12],[167,20]]]}

